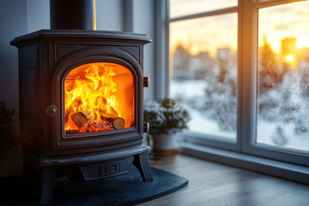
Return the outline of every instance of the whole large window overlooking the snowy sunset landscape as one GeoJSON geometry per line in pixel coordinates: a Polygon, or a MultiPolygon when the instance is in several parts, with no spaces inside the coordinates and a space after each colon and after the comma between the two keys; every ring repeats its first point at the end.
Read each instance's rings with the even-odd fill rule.
{"type": "Polygon", "coordinates": [[[309,1],[167,4],[169,96],[192,116],[184,140],[308,166],[309,1]]]}

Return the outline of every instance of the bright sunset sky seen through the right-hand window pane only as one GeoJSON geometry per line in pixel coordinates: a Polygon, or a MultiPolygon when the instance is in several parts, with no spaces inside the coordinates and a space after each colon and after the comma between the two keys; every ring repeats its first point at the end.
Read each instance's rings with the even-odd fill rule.
{"type": "Polygon", "coordinates": [[[271,6],[259,10],[259,45],[263,35],[280,52],[281,40],[295,37],[296,46],[309,47],[309,1],[271,6]]]}

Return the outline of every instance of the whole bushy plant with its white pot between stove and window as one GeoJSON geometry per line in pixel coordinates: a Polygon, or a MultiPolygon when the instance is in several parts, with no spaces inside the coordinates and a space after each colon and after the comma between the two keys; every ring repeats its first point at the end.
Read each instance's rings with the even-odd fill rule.
{"type": "Polygon", "coordinates": [[[153,152],[159,155],[178,152],[177,132],[188,129],[190,116],[174,99],[160,101],[146,100],[144,121],[148,122],[149,133],[153,137],[153,152]]]}

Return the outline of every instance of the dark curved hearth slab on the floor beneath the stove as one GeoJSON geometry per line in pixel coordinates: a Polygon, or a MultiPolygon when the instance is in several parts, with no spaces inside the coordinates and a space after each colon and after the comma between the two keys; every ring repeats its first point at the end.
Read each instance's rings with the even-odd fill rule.
{"type": "MultiPolygon", "coordinates": [[[[175,192],[188,184],[188,179],[151,168],[154,180],[143,182],[136,167],[129,174],[73,183],[66,177],[56,180],[50,203],[47,205],[134,205],[175,192]]],[[[18,177],[1,178],[2,203],[40,205],[38,182],[23,183],[18,177]]],[[[1,203],[1,205],[2,205],[1,203]]]]}

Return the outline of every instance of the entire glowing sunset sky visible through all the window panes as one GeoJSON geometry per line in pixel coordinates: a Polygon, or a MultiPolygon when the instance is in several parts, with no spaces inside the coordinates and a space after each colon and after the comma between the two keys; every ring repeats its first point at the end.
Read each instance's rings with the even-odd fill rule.
{"type": "MultiPolygon", "coordinates": [[[[170,0],[170,18],[237,6],[237,0],[170,0]]],[[[281,40],[295,37],[298,47],[309,47],[309,1],[294,2],[259,9],[259,45],[263,35],[275,52],[280,52],[281,40]]],[[[179,42],[192,54],[228,47],[237,51],[238,14],[229,13],[170,23],[170,45],[179,42]]]]}

